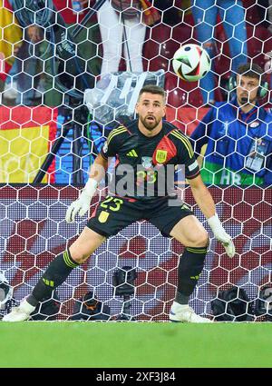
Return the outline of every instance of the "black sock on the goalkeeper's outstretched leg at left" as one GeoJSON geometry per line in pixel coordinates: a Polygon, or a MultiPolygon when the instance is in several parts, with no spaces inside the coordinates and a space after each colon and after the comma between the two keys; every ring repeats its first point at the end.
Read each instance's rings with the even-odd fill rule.
{"type": "Polygon", "coordinates": [[[34,290],[28,296],[27,302],[35,307],[38,302],[50,299],[53,290],[61,285],[78,265],[77,262],[73,261],[69,250],[56,256],[47,267],[39,282],[34,286],[34,290]]]}

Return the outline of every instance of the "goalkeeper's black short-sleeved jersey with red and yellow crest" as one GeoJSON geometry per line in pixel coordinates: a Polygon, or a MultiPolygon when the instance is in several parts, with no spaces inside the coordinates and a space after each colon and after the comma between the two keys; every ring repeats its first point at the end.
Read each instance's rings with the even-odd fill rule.
{"type": "Polygon", "coordinates": [[[138,120],[120,126],[109,134],[101,153],[104,159],[116,157],[109,191],[121,197],[169,197],[174,195],[174,175],[178,171],[187,179],[199,175],[189,138],[165,121],[160,133],[152,137],[141,133],[138,120]]]}

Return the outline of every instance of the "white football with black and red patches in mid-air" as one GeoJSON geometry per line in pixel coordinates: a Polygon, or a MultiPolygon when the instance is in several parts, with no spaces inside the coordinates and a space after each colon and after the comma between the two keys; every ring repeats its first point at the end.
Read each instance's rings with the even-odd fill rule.
{"type": "Polygon", "coordinates": [[[210,70],[210,58],[200,45],[181,45],[172,60],[175,73],[188,82],[196,82],[210,70]]]}

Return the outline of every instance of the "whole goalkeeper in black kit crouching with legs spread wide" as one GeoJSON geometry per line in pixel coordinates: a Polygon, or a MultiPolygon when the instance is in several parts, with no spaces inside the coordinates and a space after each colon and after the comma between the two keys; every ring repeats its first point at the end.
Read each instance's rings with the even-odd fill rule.
{"type": "Polygon", "coordinates": [[[136,104],[138,119],[127,127],[112,130],[102,152],[90,170],[90,178],[78,200],[66,213],[67,223],[76,214],[90,209],[92,196],[108,168],[108,159],[116,157],[109,196],[96,207],[91,219],[70,248],[56,256],[34,286],[33,292],[12,312],[5,322],[28,320],[36,305],[51,298],[74,268],[83,264],[106,238],[119,233],[131,223],[145,219],[164,236],[173,237],[185,246],[178,267],[178,287],[170,308],[172,322],[211,322],[189,306],[207,254],[209,235],[172,190],[177,168],[183,167],[193,196],[208,219],[215,237],[222,242],[229,257],[235,254],[231,237],[222,227],[215,203],[202,183],[199,166],[186,135],[165,122],[165,92],[156,85],[144,86],[136,104]]]}

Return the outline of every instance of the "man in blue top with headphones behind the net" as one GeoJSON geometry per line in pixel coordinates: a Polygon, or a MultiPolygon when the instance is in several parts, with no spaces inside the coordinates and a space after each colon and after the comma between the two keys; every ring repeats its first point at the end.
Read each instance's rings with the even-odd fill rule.
{"type": "Polygon", "coordinates": [[[204,153],[205,183],[272,184],[272,114],[257,104],[267,94],[261,74],[257,64],[240,65],[230,78],[234,98],[215,104],[191,135],[196,153],[204,153]]]}

